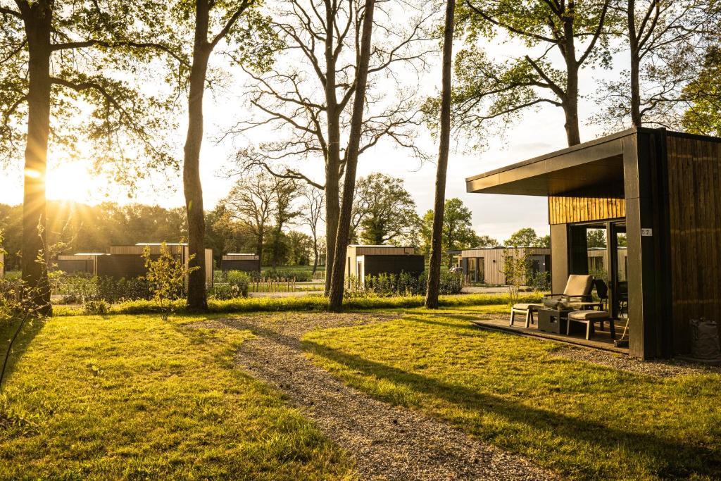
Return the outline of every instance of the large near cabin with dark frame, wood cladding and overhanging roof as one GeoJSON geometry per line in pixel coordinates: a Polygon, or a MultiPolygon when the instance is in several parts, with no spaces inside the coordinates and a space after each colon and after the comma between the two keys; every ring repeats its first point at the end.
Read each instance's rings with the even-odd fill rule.
{"type": "Polygon", "coordinates": [[[632,356],[686,353],[690,319],[721,321],[721,138],[629,129],[466,189],[548,198],[554,292],[588,273],[588,230],[605,231],[611,311],[627,309],[632,356]]]}

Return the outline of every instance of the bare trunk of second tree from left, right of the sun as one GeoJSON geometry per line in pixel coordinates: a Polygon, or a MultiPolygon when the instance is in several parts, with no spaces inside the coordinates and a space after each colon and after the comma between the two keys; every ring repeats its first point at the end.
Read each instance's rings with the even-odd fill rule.
{"type": "Polygon", "coordinates": [[[193,312],[208,310],[205,293],[205,215],[203,186],[200,184],[200,146],[203,143],[203,93],[211,48],[208,45],[208,0],[195,2],[195,43],[190,69],[188,125],[183,159],[183,188],[187,208],[188,248],[193,257],[188,267],[198,268],[188,275],[187,307],[193,312]]]}

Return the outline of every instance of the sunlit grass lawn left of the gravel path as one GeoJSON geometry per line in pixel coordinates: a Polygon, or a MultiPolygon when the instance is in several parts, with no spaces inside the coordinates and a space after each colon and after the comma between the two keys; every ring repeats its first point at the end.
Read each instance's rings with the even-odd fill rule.
{"type": "Polygon", "coordinates": [[[235,368],[250,333],[184,327],[203,319],[30,326],[0,395],[0,478],[353,478],[314,425],[235,368]]]}

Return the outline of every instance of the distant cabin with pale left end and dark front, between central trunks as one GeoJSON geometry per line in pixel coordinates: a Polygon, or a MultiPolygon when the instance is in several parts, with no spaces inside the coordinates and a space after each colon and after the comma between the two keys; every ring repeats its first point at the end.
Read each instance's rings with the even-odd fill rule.
{"type": "Polygon", "coordinates": [[[346,279],[355,277],[365,282],[366,275],[421,275],[425,270],[425,257],[416,254],[415,247],[351,244],[346,252],[346,279]]]}

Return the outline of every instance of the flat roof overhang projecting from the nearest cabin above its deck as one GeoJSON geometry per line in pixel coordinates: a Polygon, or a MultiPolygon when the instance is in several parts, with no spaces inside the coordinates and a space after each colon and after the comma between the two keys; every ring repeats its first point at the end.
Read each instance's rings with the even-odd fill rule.
{"type": "Polygon", "coordinates": [[[466,191],[487,194],[616,196],[624,189],[624,138],[629,129],[466,179],[466,191]]]}

